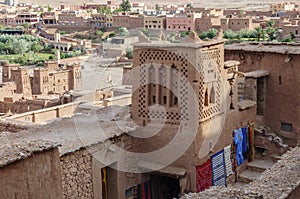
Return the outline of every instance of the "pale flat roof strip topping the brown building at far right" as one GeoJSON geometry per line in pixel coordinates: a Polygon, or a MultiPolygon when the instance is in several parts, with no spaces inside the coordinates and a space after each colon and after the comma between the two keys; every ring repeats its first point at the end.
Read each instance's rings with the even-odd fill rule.
{"type": "Polygon", "coordinates": [[[300,43],[284,42],[243,42],[225,45],[225,50],[269,52],[279,54],[300,54],[300,43]]]}

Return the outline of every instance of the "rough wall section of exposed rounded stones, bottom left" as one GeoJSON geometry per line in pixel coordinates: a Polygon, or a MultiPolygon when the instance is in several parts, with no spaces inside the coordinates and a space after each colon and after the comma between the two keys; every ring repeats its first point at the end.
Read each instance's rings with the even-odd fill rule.
{"type": "Polygon", "coordinates": [[[87,149],[60,158],[63,198],[93,198],[92,156],[87,149]]]}

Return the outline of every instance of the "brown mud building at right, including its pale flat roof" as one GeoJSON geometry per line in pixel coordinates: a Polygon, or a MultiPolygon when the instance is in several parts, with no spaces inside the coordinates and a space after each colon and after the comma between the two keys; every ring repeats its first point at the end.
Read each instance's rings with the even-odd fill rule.
{"type": "Polygon", "coordinates": [[[269,72],[268,77],[254,81],[260,104],[257,121],[292,145],[300,140],[299,53],[298,44],[287,43],[242,43],[225,48],[225,59],[239,60],[242,72],[269,72]]]}

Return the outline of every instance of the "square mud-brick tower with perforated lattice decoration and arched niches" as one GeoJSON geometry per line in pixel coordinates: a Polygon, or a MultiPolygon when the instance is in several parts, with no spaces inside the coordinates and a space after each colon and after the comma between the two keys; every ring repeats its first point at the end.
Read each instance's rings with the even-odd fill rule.
{"type": "Polygon", "coordinates": [[[171,145],[173,150],[156,163],[174,157],[169,166],[187,171],[181,191],[196,191],[195,165],[230,145],[237,126],[255,120],[255,107],[238,108],[238,62],[224,66],[224,40],[219,38],[202,41],[192,32],[181,43],[144,38],[134,45],[132,118],[147,129],[140,134],[152,135],[162,124],[143,139],[140,152],[171,145]]]}

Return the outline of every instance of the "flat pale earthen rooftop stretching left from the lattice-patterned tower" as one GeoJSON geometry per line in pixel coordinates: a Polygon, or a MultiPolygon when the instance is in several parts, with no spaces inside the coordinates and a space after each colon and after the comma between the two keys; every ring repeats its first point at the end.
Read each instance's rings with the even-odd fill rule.
{"type": "MultiPolygon", "coordinates": [[[[129,107],[110,106],[77,113],[72,118],[59,118],[47,125],[30,126],[18,133],[0,131],[0,146],[43,140],[59,145],[59,153],[64,155],[128,133],[134,128],[135,125],[130,122],[129,107]]],[[[0,161],[3,157],[0,152],[0,161]]]]}

